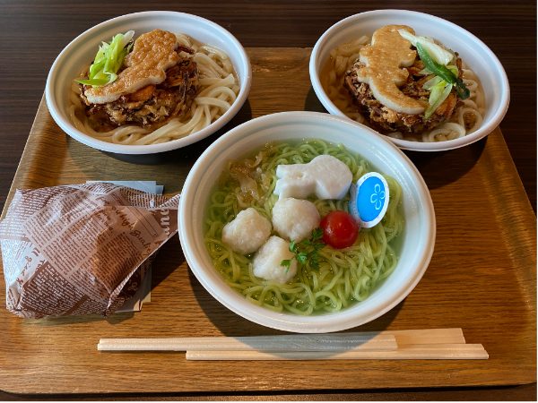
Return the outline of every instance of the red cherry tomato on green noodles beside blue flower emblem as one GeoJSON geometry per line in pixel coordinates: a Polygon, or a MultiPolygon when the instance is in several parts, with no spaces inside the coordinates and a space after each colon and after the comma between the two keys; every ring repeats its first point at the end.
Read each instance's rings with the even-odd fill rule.
{"type": "Polygon", "coordinates": [[[331,211],[319,226],[323,229],[323,242],[335,249],[351,246],[359,236],[359,223],[351,214],[342,210],[331,211]]]}

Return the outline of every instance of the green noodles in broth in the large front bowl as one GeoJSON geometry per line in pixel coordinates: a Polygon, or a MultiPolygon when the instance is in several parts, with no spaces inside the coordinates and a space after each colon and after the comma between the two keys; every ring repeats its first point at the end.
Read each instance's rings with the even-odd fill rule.
{"type": "MultiPolygon", "coordinates": [[[[334,313],[366,299],[395,269],[397,237],[404,229],[404,217],[402,188],[389,176],[384,176],[390,200],[382,221],[372,228],[360,228],[357,241],[348,248],[337,250],[325,245],[319,252],[319,267],[299,263],[297,274],[286,284],[257,278],[253,274],[253,256],[234,253],[222,243],[222,228],[240,210],[253,207],[271,221],[271,211],[278,200],[273,194],[278,165],[306,164],[322,154],[343,161],[351,170],[353,182],[373,170],[367,160],[343,145],[320,140],[278,142],[242,160],[259,176],[256,197],[246,195],[229,170],[213,188],[204,219],[207,250],[223,279],[254,304],[300,315],[334,313]]],[[[343,200],[308,200],[314,202],[321,217],[331,210],[348,211],[349,194],[343,200]]]]}

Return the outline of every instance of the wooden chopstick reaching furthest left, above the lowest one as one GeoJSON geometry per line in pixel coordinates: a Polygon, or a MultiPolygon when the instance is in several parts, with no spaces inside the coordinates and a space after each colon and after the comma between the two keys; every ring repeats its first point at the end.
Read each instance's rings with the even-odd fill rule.
{"type": "Polygon", "coordinates": [[[342,351],[395,350],[395,336],[377,332],[162,339],[100,339],[100,351],[342,351]]]}

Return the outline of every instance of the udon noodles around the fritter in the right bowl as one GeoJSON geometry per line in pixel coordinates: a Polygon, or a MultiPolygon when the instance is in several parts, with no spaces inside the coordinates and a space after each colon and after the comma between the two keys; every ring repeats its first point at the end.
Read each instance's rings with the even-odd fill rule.
{"type": "MultiPolygon", "coordinates": [[[[334,106],[356,122],[367,125],[369,124],[368,120],[360,114],[348,90],[344,88],[343,78],[345,72],[359,59],[360,48],[368,45],[369,41],[368,36],[362,36],[335,47],[331,51],[329,61],[325,64],[320,77],[321,84],[334,106]]],[[[482,124],[484,95],[478,77],[472,70],[465,67],[464,62],[463,81],[471,91],[471,96],[468,99],[459,99],[458,107],[449,121],[424,133],[414,135],[405,133],[404,135],[401,132],[394,132],[387,135],[408,141],[432,142],[453,140],[473,133],[482,124]]]]}

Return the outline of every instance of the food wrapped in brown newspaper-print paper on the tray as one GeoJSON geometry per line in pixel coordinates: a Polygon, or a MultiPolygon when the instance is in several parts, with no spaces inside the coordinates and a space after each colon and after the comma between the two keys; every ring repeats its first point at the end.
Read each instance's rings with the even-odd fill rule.
{"type": "Polygon", "coordinates": [[[0,221],[7,309],[114,313],[177,233],[178,198],[107,183],[17,190],[0,221]]]}

